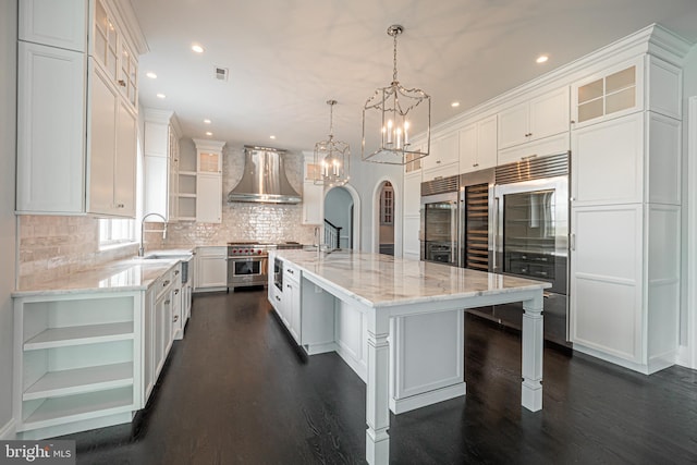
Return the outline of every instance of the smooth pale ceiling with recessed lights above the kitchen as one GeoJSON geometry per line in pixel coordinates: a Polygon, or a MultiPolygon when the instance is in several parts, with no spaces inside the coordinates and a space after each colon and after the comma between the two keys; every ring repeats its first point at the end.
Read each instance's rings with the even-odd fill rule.
{"type": "Polygon", "coordinates": [[[366,99],[392,81],[391,24],[404,27],[399,81],[431,96],[433,124],[651,23],[697,42],[697,0],[131,3],[149,48],[140,57],[140,105],[175,111],[183,136],[311,150],[327,138],[326,102],[335,99],[334,136],[354,156],[366,99]],[[549,61],[537,64],[541,53],[549,61]],[[215,78],[216,66],[229,69],[228,81],[215,78]]]}

